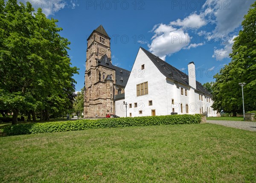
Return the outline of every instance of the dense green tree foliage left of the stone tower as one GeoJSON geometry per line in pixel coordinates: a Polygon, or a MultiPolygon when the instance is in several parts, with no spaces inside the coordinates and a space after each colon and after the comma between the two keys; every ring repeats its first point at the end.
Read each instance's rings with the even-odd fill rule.
{"type": "Polygon", "coordinates": [[[41,8],[0,0],[0,109],[62,112],[72,108],[75,83],[67,54],[70,42],[41,8]]]}

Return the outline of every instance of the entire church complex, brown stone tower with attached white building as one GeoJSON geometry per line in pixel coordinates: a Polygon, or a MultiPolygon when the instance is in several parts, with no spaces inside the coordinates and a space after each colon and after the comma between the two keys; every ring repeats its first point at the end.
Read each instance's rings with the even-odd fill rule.
{"type": "Polygon", "coordinates": [[[137,53],[132,73],[112,65],[110,37],[100,25],[87,39],[84,118],[172,112],[216,116],[211,94],[196,81],[194,62],[188,70],[189,76],[144,48],[137,53]]]}

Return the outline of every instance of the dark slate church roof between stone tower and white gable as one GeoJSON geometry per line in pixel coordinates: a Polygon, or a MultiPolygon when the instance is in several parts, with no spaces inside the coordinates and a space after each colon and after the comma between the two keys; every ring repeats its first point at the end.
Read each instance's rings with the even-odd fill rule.
{"type": "Polygon", "coordinates": [[[122,87],[126,86],[129,76],[130,76],[130,73],[131,73],[130,71],[114,66],[110,62],[110,60],[106,54],[104,56],[102,56],[101,59],[97,59],[97,61],[98,61],[98,65],[116,70],[116,84],[120,85],[122,87]]]}

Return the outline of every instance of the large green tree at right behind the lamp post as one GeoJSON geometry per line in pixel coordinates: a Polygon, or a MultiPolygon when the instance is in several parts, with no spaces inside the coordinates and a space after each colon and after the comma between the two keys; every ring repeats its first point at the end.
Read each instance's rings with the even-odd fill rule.
{"type": "Polygon", "coordinates": [[[256,2],[244,16],[243,30],[234,40],[232,61],[217,73],[213,84],[213,108],[226,112],[242,112],[242,92],[239,82],[245,82],[245,111],[256,110],[256,2]]]}

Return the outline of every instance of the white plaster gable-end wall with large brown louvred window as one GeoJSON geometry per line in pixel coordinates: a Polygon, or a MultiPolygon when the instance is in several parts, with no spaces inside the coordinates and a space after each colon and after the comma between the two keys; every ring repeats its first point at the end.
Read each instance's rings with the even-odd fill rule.
{"type": "Polygon", "coordinates": [[[148,116],[151,110],[155,110],[156,115],[167,115],[167,95],[166,95],[166,77],[157,69],[148,56],[139,49],[135,59],[130,77],[125,86],[125,102],[128,104],[127,116],[148,116]],[[141,70],[141,65],[145,65],[145,69],[141,70]],[[148,82],[148,95],[137,97],[137,84],[148,82]],[[149,106],[148,101],[152,100],[153,105],[149,106]],[[134,103],[137,107],[134,107],[134,103]],[[129,104],[132,107],[129,108],[129,104]],[[139,114],[142,110],[143,113],[139,114]]]}

